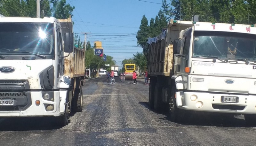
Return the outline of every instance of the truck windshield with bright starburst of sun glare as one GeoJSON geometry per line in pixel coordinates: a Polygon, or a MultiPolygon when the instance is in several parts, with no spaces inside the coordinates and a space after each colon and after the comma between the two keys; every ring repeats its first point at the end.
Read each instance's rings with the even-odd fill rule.
{"type": "Polygon", "coordinates": [[[53,44],[51,23],[0,23],[1,55],[50,55],[54,54],[53,44]]]}

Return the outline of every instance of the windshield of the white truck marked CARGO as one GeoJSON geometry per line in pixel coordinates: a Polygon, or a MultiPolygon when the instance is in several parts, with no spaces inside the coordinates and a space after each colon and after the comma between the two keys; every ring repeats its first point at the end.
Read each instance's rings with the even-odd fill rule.
{"type": "Polygon", "coordinates": [[[255,60],[256,35],[195,31],[193,57],[255,60]]]}

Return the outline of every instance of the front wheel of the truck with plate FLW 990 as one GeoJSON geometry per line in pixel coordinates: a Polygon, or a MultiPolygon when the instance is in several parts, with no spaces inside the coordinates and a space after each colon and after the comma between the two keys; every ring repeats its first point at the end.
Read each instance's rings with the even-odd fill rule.
{"type": "Polygon", "coordinates": [[[170,113],[170,117],[171,117],[172,122],[179,122],[179,121],[182,121],[183,114],[182,114],[181,109],[177,108],[175,92],[176,92],[176,87],[172,86],[171,97],[169,99],[169,103],[170,103],[169,113],[170,113]]]}

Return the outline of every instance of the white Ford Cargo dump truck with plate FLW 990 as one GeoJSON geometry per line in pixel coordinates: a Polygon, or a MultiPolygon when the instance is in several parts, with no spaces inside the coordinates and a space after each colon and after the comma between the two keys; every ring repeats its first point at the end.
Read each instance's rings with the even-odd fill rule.
{"type": "Polygon", "coordinates": [[[148,43],[150,108],[169,105],[172,121],[208,111],[256,122],[254,25],[170,20],[148,43]]]}

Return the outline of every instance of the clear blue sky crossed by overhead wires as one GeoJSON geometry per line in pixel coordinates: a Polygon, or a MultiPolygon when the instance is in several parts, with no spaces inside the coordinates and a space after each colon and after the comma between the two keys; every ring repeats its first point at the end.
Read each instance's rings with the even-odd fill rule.
{"type": "MultiPolygon", "coordinates": [[[[67,0],[67,3],[75,6],[72,18],[75,22],[74,32],[90,32],[87,40],[91,41],[92,46],[94,41],[101,41],[104,53],[112,56],[116,64],[121,66],[122,60],[132,58],[137,51],[142,52],[142,48],[137,46],[136,39],[142,16],[145,14],[148,20],[155,18],[162,6],[162,0],[143,1],[67,0]]],[[[79,36],[84,40],[84,35],[79,36]]]]}

